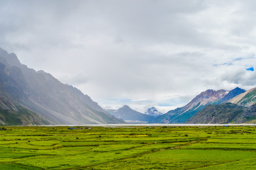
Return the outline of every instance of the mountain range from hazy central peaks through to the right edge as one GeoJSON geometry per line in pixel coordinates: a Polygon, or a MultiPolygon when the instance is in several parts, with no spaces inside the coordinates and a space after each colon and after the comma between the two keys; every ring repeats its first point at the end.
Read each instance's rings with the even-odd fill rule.
{"type": "Polygon", "coordinates": [[[151,120],[126,105],[118,110],[107,111],[129,123],[252,123],[256,122],[255,98],[256,88],[248,91],[239,87],[231,91],[208,89],[197,95],[184,107],[170,110],[165,114],[159,113],[154,107],[149,108],[145,113],[154,115],[151,120]],[[141,117],[138,118],[139,116],[141,117]]]}

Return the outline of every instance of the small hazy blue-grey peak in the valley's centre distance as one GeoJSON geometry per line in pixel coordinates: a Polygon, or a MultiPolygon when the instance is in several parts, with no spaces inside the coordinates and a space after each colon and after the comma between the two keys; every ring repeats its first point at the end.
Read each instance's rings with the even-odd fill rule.
{"type": "Polygon", "coordinates": [[[127,123],[148,123],[154,119],[153,116],[132,110],[127,105],[124,105],[118,110],[109,109],[106,111],[114,115],[116,118],[123,119],[127,123]]]}

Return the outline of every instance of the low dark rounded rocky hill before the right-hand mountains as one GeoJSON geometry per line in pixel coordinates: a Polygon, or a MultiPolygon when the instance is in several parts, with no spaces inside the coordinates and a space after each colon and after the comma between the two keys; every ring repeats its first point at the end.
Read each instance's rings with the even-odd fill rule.
{"type": "Polygon", "coordinates": [[[203,110],[198,111],[185,123],[190,124],[225,124],[234,121],[239,114],[247,108],[233,103],[222,103],[218,105],[208,105],[203,110]]]}

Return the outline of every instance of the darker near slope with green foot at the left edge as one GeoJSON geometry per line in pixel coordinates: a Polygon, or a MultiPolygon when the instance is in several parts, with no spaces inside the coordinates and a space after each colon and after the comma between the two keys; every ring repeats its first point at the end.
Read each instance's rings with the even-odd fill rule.
{"type": "Polygon", "coordinates": [[[49,122],[19,105],[17,99],[23,98],[24,93],[10,73],[0,63],[0,125],[48,125],[49,122]]]}

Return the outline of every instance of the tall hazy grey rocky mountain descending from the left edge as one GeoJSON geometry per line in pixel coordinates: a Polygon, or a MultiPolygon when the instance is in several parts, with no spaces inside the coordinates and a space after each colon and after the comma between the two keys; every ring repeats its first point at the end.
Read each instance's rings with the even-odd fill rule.
{"type": "Polygon", "coordinates": [[[62,84],[42,70],[27,68],[14,53],[0,49],[0,68],[3,110],[17,112],[16,106],[25,108],[50,124],[124,123],[106,113],[77,88],[62,84]]]}

